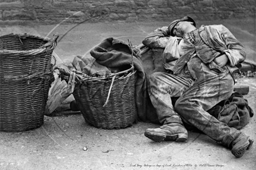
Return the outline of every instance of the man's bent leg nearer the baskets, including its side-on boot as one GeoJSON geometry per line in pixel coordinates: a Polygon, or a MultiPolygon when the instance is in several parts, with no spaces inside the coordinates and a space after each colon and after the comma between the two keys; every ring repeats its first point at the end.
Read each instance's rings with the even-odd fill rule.
{"type": "Polygon", "coordinates": [[[155,107],[159,122],[163,124],[157,129],[147,129],[145,136],[155,142],[163,140],[184,141],[187,130],[172,106],[171,97],[179,97],[192,84],[191,79],[157,72],[148,77],[148,93],[155,107]]]}

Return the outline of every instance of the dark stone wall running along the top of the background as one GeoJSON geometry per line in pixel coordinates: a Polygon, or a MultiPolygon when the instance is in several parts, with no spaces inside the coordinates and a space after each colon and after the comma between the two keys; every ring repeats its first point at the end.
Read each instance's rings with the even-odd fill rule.
{"type": "Polygon", "coordinates": [[[255,17],[255,0],[0,0],[0,24],[255,17]]]}

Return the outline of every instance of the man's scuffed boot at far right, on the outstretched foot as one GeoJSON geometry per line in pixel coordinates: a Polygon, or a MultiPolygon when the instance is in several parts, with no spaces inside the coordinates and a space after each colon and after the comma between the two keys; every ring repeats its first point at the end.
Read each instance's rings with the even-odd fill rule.
{"type": "Polygon", "coordinates": [[[253,145],[254,140],[250,139],[249,136],[246,136],[244,133],[241,133],[236,139],[233,140],[232,154],[236,157],[242,157],[246,150],[250,149],[253,145]]]}

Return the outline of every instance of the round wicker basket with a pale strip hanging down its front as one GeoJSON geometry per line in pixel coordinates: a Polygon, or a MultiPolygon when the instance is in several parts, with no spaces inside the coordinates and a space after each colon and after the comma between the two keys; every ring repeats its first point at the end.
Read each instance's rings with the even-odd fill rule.
{"type": "Polygon", "coordinates": [[[76,78],[73,96],[86,122],[102,129],[121,129],[137,122],[136,80],[133,66],[106,77],[76,78]]]}

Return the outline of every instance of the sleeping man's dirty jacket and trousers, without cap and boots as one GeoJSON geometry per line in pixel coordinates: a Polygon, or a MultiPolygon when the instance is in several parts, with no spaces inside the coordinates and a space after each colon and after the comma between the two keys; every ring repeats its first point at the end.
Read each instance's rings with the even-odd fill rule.
{"type": "Polygon", "coordinates": [[[170,37],[164,29],[155,30],[143,41],[151,48],[165,48],[159,57],[173,73],[154,73],[148,79],[148,92],[159,122],[180,122],[180,116],[187,124],[229,146],[241,132],[207,110],[232,95],[234,81],[230,72],[246,57],[243,46],[222,25],[201,26],[183,38],[170,37]],[[229,58],[229,66],[221,68],[214,60],[223,54],[229,58]],[[179,97],[174,107],[171,97],[179,97]]]}

